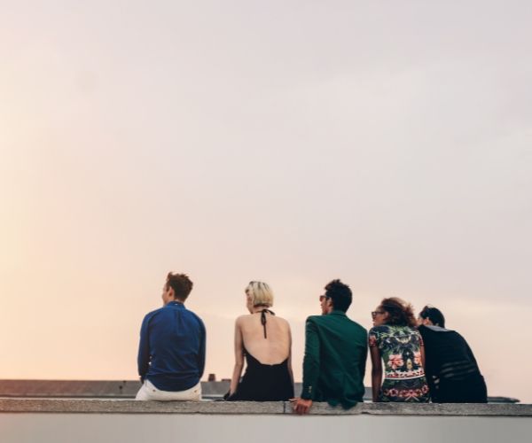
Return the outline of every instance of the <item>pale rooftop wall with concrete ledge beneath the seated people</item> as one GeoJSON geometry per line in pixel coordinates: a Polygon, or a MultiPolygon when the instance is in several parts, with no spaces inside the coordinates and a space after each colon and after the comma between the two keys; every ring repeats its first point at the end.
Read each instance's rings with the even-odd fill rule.
{"type": "Polygon", "coordinates": [[[282,401],[0,399],[2,443],[528,443],[531,434],[532,405],[317,403],[295,416],[282,401]]]}

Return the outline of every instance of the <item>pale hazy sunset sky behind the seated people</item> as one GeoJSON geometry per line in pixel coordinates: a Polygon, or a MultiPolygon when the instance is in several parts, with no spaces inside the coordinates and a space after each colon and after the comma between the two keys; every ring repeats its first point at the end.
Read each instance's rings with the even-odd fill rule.
{"type": "Polygon", "coordinates": [[[250,280],[301,380],[340,278],[367,329],[440,307],[532,402],[528,1],[0,6],[0,378],[137,377],[173,270],[218,378],[250,280]]]}

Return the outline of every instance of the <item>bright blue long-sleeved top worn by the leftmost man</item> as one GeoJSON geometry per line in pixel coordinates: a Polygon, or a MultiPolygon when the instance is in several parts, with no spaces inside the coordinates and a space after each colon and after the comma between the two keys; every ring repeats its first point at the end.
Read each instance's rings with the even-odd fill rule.
{"type": "Polygon", "coordinates": [[[138,346],[141,380],[172,392],[197,385],[205,369],[205,335],[200,317],[178,301],[146,315],[138,346]]]}

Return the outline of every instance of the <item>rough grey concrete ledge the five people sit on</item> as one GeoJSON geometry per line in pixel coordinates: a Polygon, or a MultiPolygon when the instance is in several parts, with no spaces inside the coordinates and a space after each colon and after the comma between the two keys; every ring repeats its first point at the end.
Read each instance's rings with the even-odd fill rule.
{"type": "MultiPolygon", "coordinates": [[[[0,413],[60,414],[206,414],[293,415],[289,402],[255,401],[135,401],[0,399],[0,413]]],[[[401,404],[359,403],[355,408],[332,408],[315,403],[315,416],[522,416],[532,417],[532,405],[523,404],[401,404]]]]}

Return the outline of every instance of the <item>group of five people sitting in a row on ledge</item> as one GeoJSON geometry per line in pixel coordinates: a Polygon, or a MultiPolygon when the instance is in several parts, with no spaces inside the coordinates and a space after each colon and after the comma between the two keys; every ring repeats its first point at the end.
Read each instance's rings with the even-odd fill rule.
{"type": "MultiPolygon", "coordinates": [[[[184,307],[191,291],[188,276],[169,273],[164,306],[145,315],[137,400],[201,399],[206,330],[200,317],[184,307]]],[[[249,314],[235,323],[235,366],[225,400],[290,400],[298,414],[309,412],[313,401],[351,408],[364,397],[369,349],[373,401],[487,401],[471,348],[458,332],[445,329],[439,309],[426,306],[416,319],[411,304],[383,299],[372,312],[368,332],[346,315],[352,292],[340,280],[332,280],[319,296],[321,315],[307,319],[302,390],[294,397],[290,325],[270,310],[268,284],[250,282],[245,293],[249,314]]]]}

